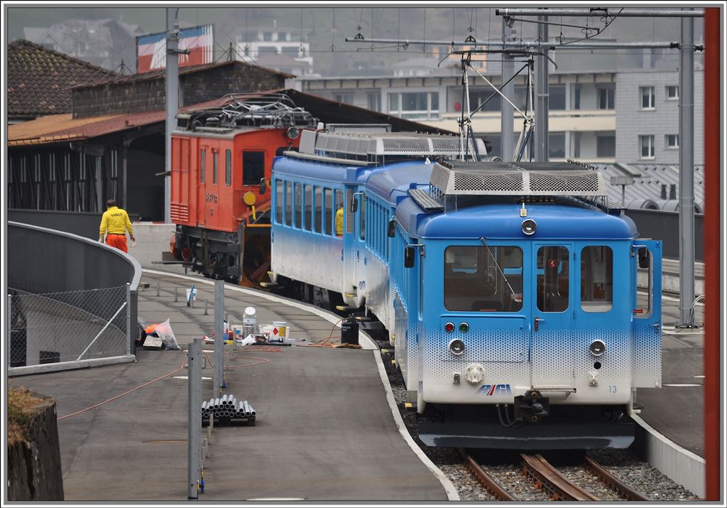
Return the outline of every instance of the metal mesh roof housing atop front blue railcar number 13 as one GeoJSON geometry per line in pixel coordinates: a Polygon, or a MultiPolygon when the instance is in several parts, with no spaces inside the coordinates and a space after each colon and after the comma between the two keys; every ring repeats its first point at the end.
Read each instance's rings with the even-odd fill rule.
{"type": "Polygon", "coordinates": [[[606,196],[603,175],[574,162],[438,162],[430,186],[446,196],[606,196]]]}

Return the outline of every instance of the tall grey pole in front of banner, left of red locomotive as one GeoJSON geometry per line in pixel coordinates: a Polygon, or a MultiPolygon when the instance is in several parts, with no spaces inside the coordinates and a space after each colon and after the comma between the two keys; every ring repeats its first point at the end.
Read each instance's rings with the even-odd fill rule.
{"type": "Polygon", "coordinates": [[[164,129],[164,223],[172,222],[172,130],[179,110],[179,25],[176,7],[166,8],[166,128],[164,129]]]}

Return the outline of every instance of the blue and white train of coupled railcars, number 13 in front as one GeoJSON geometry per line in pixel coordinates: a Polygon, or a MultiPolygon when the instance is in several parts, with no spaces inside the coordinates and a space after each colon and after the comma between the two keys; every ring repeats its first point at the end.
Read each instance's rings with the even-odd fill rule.
{"type": "Polygon", "coordinates": [[[661,242],[600,173],[303,135],[273,165],[271,277],[375,314],[427,445],[630,445],[635,389],[661,384],[661,242]]]}

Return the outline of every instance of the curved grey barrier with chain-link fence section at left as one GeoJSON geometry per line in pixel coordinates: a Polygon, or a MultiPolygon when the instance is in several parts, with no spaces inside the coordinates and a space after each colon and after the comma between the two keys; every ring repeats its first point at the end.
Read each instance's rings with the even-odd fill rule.
{"type": "Polygon", "coordinates": [[[7,231],[9,376],[133,361],[140,264],[76,234],[7,231]]]}

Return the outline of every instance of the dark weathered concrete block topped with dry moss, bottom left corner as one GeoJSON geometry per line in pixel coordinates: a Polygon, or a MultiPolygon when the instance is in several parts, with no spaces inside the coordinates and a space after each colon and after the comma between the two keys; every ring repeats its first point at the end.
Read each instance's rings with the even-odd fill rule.
{"type": "Polygon", "coordinates": [[[55,401],[41,398],[43,402],[25,415],[31,418],[25,440],[8,445],[8,501],[63,501],[55,401]]]}

